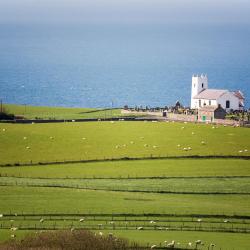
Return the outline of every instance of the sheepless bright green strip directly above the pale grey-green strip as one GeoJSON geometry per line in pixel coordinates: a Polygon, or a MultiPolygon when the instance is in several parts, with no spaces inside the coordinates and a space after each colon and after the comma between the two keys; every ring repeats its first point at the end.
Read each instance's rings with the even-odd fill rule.
{"type": "Polygon", "coordinates": [[[34,178],[250,176],[250,163],[241,159],[91,162],[32,167],[0,167],[0,175],[34,178]]]}

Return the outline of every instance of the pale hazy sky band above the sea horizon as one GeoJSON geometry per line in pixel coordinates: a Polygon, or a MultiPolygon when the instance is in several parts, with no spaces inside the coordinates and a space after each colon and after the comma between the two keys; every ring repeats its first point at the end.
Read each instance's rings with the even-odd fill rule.
{"type": "Polygon", "coordinates": [[[250,24],[249,0],[0,0],[0,24],[250,24]]]}

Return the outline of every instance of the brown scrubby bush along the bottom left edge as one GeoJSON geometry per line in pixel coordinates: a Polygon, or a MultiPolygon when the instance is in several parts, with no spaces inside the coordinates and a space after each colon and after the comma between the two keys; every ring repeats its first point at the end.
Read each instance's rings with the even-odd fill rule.
{"type": "Polygon", "coordinates": [[[46,231],[28,235],[23,240],[11,240],[0,245],[0,250],[128,250],[142,249],[129,245],[124,239],[100,236],[86,230],[46,231]]]}

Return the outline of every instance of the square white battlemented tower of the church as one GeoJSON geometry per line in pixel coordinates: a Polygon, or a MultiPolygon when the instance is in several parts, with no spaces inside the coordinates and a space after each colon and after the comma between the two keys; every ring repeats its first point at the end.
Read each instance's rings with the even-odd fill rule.
{"type": "Polygon", "coordinates": [[[208,88],[207,75],[201,74],[192,76],[192,92],[191,92],[191,108],[195,109],[197,104],[196,100],[193,99],[194,96],[198,95],[201,91],[208,88]]]}

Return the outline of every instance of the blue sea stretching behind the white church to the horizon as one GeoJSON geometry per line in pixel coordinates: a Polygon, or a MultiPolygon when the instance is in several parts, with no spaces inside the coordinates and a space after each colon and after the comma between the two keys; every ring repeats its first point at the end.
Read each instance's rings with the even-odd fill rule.
{"type": "Polygon", "coordinates": [[[110,107],[190,105],[193,73],[242,90],[250,106],[250,27],[0,25],[0,98],[110,107]]]}

